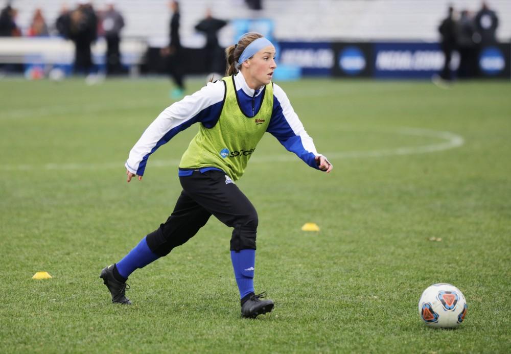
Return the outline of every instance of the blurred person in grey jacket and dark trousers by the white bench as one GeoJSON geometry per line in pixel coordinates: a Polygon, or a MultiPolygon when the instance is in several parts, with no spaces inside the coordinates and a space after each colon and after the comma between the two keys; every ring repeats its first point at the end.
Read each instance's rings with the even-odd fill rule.
{"type": "Polygon", "coordinates": [[[106,11],[101,16],[101,28],[106,40],[106,73],[108,75],[120,74],[122,71],[119,46],[123,27],[123,16],[115,9],[113,2],[107,2],[106,11]]]}

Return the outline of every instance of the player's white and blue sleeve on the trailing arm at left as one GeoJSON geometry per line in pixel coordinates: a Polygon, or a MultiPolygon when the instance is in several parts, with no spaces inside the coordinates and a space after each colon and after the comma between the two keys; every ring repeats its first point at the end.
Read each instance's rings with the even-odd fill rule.
{"type": "MultiPolygon", "coordinates": [[[[139,176],[144,174],[147,159],[158,147],[167,143],[181,130],[196,122],[211,118],[206,108],[221,104],[225,95],[225,84],[218,80],[208,83],[191,96],[172,104],[162,111],[147,127],[140,139],[129,152],[126,169],[139,176]]],[[[218,118],[217,118],[218,119],[218,118]]]]}

